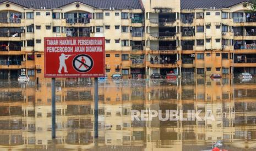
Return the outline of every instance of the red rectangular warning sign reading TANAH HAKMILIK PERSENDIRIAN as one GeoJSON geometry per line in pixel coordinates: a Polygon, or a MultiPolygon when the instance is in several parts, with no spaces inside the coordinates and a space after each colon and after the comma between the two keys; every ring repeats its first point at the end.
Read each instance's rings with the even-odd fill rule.
{"type": "Polygon", "coordinates": [[[45,77],[105,77],[105,38],[45,38],[45,77]]]}

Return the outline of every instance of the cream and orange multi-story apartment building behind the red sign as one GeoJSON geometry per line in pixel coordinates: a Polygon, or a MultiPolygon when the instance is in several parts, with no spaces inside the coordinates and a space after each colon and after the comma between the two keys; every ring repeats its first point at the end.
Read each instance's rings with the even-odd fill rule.
{"type": "Polygon", "coordinates": [[[255,74],[249,9],[244,0],[0,1],[0,78],[41,80],[44,37],[105,37],[108,77],[255,74]]]}

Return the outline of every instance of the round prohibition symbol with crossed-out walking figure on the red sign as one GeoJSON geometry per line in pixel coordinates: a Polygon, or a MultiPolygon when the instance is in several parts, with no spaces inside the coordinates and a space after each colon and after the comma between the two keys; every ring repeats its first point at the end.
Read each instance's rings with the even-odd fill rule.
{"type": "Polygon", "coordinates": [[[88,72],[93,65],[94,62],[89,55],[81,54],[73,59],[73,67],[78,72],[88,72]]]}

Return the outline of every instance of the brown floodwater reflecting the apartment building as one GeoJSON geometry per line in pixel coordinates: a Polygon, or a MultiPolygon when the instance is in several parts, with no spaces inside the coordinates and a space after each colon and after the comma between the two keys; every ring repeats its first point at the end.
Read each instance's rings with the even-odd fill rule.
{"type": "Polygon", "coordinates": [[[222,149],[256,150],[254,78],[99,82],[98,138],[93,82],[57,80],[56,140],[51,139],[50,80],[39,86],[15,80],[0,85],[0,150],[211,150],[217,141],[222,149]],[[162,118],[166,110],[182,110],[187,120],[132,119],[133,111],[143,110],[162,118]],[[201,111],[203,120],[188,120],[190,111],[201,111]],[[214,120],[204,119],[206,113],[214,120]]]}

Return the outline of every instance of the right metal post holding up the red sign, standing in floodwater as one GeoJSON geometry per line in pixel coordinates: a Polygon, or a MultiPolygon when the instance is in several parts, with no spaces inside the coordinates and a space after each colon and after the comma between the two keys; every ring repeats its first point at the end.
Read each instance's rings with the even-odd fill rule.
{"type": "Polygon", "coordinates": [[[94,78],[94,138],[98,138],[98,78],[94,78]]]}

